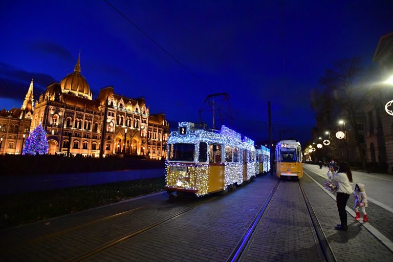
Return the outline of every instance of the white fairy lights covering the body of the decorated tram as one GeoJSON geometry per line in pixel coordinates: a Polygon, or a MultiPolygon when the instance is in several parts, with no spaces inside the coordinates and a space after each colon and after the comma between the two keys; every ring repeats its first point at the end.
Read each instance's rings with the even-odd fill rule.
{"type": "MultiPolygon", "coordinates": [[[[234,162],[233,159],[230,162],[224,162],[224,189],[227,189],[231,184],[242,184],[243,183],[243,156],[244,150],[246,150],[247,161],[247,180],[255,176],[257,173],[256,163],[256,150],[254,147],[254,141],[244,137],[242,140],[241,134],[234,130],[222,126],[220,132],[214,132],[213,130],[204,130],[194,128],[193,123],[180,122],[179,129],[181,132],[172,131],[168,138],[168,159],[166,161],[166,187],[181,187],[182,189],[198,190],[196,193],[198,196],[207,194],[209,192],[209,164],[200,163],[199,158],[199,145],[200,142],[206,142],[209,144],[220,144],[225,149],[226,146],[238,149],[238,161],[234,162]],[[176,143],[186,143],[194,145],[194,154],[192,161],[170,161],[170,146],[176,143]],[[180,166],[186,168],[173,168],[173,166],[180,166]],[[187,170],[187,171],[185,171],[187,170]],[[182,184],[179,186],[178,182],[182,184]]],[[[207,146],[207,154],[209,146],[207,146]]],[[[262,149],[261,149],[262,150],[262,149]]],[[[264,152],[269,150],[265,147],[264,152]]],[[[266,155],[266,153],[264,153],[266,155]]],[[[270,152],[269,154],[269,165],[270,165],[270,152]]],[[[225,151],[223,150],[222,159],[225,160],[225,151]]],[[[207,161],[208,158],[207,158],[207,161]]],[[[270,166],[268,166],[270,168],[270,166]]],[[[176,191],[176,188],[173,189],[176,191]]]]}

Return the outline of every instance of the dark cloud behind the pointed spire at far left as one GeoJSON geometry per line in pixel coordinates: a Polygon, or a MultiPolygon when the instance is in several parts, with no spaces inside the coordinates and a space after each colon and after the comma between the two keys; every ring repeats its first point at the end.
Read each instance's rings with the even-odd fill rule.
{"type": "Polygon", "coordinates": [[[0,62],[0,98],[23,100],[29,89],[31,78],[34,78],[33,94],[35,99],[45,91],[46,86],[55,82],[55,79],[50,75],[27,72],[0,62]]]}

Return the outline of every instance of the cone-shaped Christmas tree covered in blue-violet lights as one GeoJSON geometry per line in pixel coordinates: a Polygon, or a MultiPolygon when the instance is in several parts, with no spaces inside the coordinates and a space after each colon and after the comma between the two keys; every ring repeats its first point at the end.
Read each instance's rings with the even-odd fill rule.
{"type": "Polygon", "coordinates": [[[43,155],[48,153],[47,132],[43,129],[41,123],[30,132],[26,139],[25,147],[23,148],[23,155],[43,155]]]}

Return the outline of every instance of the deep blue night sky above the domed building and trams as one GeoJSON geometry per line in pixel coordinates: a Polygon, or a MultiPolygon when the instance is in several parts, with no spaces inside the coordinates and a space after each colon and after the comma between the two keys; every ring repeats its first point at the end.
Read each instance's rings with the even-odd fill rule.
{"type": "Polygon", "coordinates": [[[104,1],[2,1],[0,107],[20,107],[31,77],[38,97],[73,71],[80,50],[94,97],[113,85],[144,96],[151,113],[194,122],[206,95],[227,92],[232,127],[254,140],[268,139],[271,101],[273,138],[292,129],[304,142],[324,70],[353,56],[367,69],[393,30],[392,1],[110,2],[208,86],[104,1]]]}

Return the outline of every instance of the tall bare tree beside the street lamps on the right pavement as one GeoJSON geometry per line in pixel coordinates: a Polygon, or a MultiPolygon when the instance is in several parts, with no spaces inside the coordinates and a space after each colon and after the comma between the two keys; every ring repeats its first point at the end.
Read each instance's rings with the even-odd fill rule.
{"type": "Polygon", "coordinates": [[[331,99],[327,103],[328,107],[330,107],[330,112],[343,112],[347,118],[346,122],[351,124],[354,144],[359,150],[362,166],[365,167],[365,155],[360,143],[356,118],[357,113],[364,108],[367,95],[361,77],[361,58],[344,59],[335,62],[334,69],[326,69],[325,75],[321,79],[321,84],[325,87],[323,92],[325,97],[331,99]]]}

